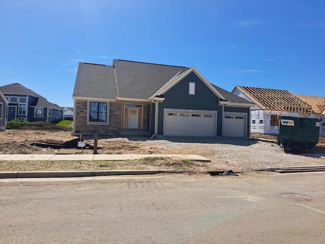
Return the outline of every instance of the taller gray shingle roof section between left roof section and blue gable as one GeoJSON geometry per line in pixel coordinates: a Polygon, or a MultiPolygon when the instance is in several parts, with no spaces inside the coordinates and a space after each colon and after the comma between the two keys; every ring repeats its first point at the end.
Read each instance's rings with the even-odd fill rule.
{"type": "Polygon", "coordinates": [[[188,67],[158,65],[114,59],[119,97],[149,99],[174,75],[188,67]]]}

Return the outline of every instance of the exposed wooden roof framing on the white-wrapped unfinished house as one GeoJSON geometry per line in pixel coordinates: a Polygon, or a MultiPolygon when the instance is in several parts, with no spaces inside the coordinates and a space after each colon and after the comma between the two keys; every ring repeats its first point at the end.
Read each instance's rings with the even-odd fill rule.
{"type": "MultiPolygon", "coordinates": [[[[264,110],[311,113],[312,107],[288,90],[237,86],[245,96],[264,110]]],[[[324,102],[325,103],[325,102],[324,102]]]]}

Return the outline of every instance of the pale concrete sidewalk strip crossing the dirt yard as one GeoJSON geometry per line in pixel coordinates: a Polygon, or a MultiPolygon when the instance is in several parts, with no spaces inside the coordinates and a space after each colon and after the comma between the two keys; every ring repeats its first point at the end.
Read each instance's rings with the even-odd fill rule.
{"type": "Polygon", "coordinates": [[[105,154],[105,155],[50,155],[50,154],[0,154],[0,161],[116,161],[116,160],[139,160],[143,158],[165,158],[172,160],[194,160],[200,162],[211,162],[209,159],[199,155],[184,154],[105,154]]]}

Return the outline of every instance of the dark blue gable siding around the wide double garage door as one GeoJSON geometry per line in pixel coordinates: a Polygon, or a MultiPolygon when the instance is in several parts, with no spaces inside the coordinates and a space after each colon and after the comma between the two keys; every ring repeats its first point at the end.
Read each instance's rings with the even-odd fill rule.
{"type": "Polygon", "coordinates": [[[218,98],[191,72],[164,94],[165,101],[159,103],[158,135],[163,135],[164,108],[213,110],[217,111],[217,136],[222,134],[222,106],[219,106],[218,98]],[[188,95],[188,82],[196,82],[195,95],[188,95]]]}

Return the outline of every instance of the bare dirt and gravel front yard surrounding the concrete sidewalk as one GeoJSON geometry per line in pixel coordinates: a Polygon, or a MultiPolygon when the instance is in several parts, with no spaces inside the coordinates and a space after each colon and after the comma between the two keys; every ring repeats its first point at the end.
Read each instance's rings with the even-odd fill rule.
{"type": "MultiPolygon", "coordinates": [[[[70,162],[52,164],[19,162],[17,165],[0,161],[0,171],[15,170],[107,170],[107,169],[184,169],[199,172],[216,169],[234,171],[265,170],[269,167],[325,165],[323,159],[310,158],[297,153],[284,153],[278,146],[277,137],[252,134],[251,138],[153,138],[114,137],[99,135],[99,154],[196,154],[211,160],[211,163],[176,162],[156,159],[142,163],[130,162],[70,162]],[[258,139],[259,138],[259,139],[258,139]]],[[[93,154],[93,136],[82,136],[88,145],[81,150],[77,147],[79,137],[64,128],[24,128],[24,130],[6,130],[0,132],[0,154],[93,154]],[[36,146],[34,146],[36,143],[36,146]],[[41,144],[48,143],[48,144],[41,144]],[[53,144],[53,145],[49,145],[53,144]]],[[[309,151],[325,153],[325,137],[319,137],[319,143],[309,151]]]]}

